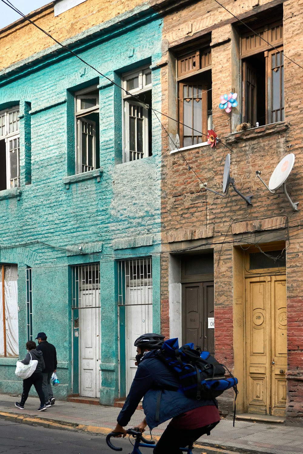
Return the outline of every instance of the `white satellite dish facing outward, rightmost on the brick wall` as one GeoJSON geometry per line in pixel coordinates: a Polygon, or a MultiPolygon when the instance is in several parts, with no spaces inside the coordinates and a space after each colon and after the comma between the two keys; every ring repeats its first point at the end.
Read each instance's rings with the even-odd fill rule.
{"type": "Polygon", "coordinates": [[[285,183],[287,178],[289,177],[289,174],[292,171],[294,160],[295,160],[295,156],[293,153],[289,153],[286,156],[284,156],[284,158],[281,159],[281,161],[278,163],[277,167],[274,169],[272,176],[269,179],[268,186],[260,177],[261,171],[257,170],[256,174],[257,174],[257,177],[262,181],[264,186],[272,194],[274,194],[277,191],[277,189],[283,185],[284,194],[286,195],[288,202],[290,203],[291,207],[293,208],[293,211],[298,211],[299,202],[293,203],[293,201],[291,200],[291,198],[288,195],[288,192],[286,190],[286,183],[285,183]]]}

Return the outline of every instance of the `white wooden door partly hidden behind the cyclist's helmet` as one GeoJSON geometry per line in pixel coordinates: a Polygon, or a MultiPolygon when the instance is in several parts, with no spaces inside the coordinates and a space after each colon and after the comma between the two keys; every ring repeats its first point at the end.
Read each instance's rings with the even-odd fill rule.
{"type": "Polygon", "coordinates": [[[153,306],[141,304],[141,301],[151,301],[151,285],[127,287],[126,291],[126,395],[137,370],[135,365],[136,347],[134,341],[145,333],[153,332],[153,306]],[[145,293],[145,298],[144,298],[145,293]],[[148,298],[147,298],[148,295],[148,298]]]}

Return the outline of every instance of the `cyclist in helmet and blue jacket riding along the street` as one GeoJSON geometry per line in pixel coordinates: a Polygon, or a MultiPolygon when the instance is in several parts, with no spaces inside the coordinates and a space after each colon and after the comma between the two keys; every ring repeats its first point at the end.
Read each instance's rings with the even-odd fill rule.
{"type": "Polygon", "coordinates": [[[157,425],[172,419],[154,448],[154,454],[177,454],[179,448],[192,444],[219,423],[220,416],[215,401],[211,399],[189,399],[178,391],[179,380],[172,370],[157,356],[164,336],[144,334],[135,341],[138,369],[130,387],[113,432],[125,437],[123,428],[129,423],[140,400],[143,399],[145,418],[139,424],[141,432],[148,425],[157,425]]]}

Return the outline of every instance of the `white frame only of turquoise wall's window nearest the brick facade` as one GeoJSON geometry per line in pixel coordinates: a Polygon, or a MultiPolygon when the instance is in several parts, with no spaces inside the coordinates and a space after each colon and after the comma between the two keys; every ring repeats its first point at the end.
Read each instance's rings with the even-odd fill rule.
{"type": "MultiPolygon", "coordinates": [[[[135,77],[139,78],[139,87],[128,90],[128,93],[122,91],[123,98],[123,109],[122,109],[122,124],[123,124],[123,162],[129,162],[130,160],[137,160],[141,158],[147,158],[149,155],[149,131],[148,131],[148,108],[145,104],[140,103],[140,101],[135,101],[132,95],[141,94],[152,89],[152,83],[146,83],[147,74],[151,74],[151,69],[149,67],[142,67],[136,69],[135,71],[129,71],[123,74],[122,86],[124,90],[127,90],[127,81],[134,79],[135,77]],[[140,106],[144,109],[144,120],[143,120],[143,153],[134,151],[136,158],[130,159],[130,150],[129,150],[129,105],[133,104],[135,106],[140,106]],[[139,154],[142,156],[139,157],[139,154]]],[[[136,137],[137,140],[137,137],[136,137]]]]}

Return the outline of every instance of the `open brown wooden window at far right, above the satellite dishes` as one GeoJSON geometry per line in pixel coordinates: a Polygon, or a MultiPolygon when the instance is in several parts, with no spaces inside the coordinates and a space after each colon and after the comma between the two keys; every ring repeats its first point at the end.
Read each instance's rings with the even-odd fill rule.
{"type": "Polygon", "coordinates": [[[243,121],[259,126],[284,120],[282,20],[241,35],[243,121]]]}

